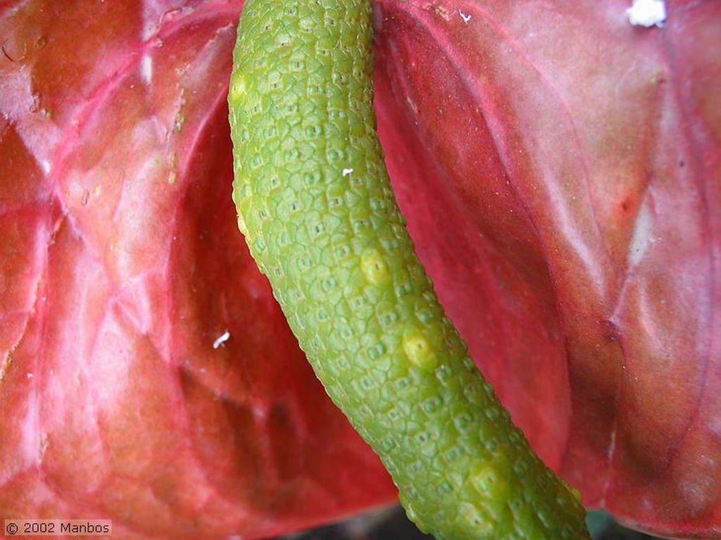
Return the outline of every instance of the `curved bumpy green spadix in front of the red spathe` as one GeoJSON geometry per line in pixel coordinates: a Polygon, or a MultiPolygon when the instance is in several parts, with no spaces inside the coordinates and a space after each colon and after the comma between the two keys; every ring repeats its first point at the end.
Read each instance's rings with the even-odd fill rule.
{"type": "Polygon", "coordinates": [[[589,538],[415,256],[376,136],[370,19],[368,1],[247,0],[229,92],[239,228],[419,528],[589,538]]]}

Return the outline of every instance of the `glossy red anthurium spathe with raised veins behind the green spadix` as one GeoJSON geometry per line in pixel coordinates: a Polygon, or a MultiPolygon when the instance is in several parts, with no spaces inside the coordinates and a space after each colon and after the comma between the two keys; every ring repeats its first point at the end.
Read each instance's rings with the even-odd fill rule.
{"type": "MultiPolygon", "coordinates": [[[[720,537],[721,4],[381,0],[386,164],[554,470],[720,537]],[[640,16],[639,16],[640,17],[640,16]]],[[[0,6],[0,515],[262,538],[394,500],[247,253],[240,1],[0,6]]]]}

